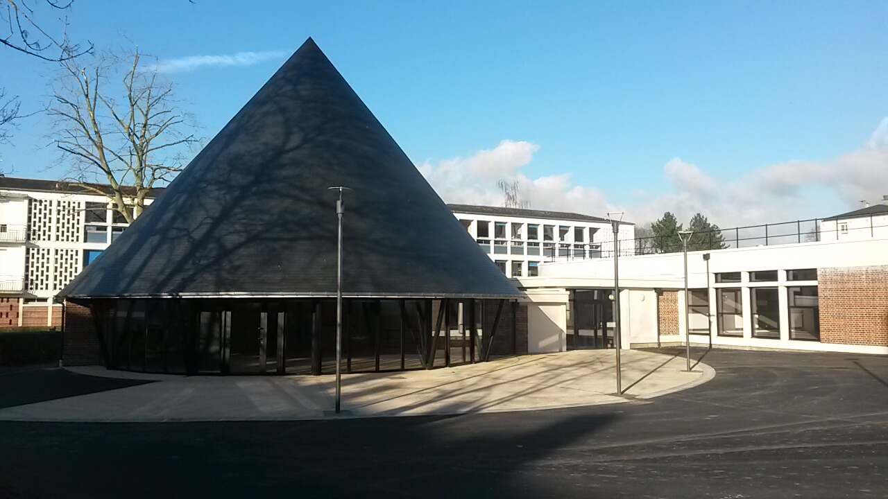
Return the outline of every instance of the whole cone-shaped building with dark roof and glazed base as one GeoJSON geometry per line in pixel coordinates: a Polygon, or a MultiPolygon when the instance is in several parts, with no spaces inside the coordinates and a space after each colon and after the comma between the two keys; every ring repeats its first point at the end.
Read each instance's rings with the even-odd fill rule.
{"type": "MultiPolygon", "coordinates": [[[[427,350],[420,360],[433,362],[432,309],[448,321],[458,302],[453,314],[467,320],[476,305],[483,315],[483,300],[520,296],[312,39],[59,296],[90,307],[109,367],[134,368],[130,360],[121,365],[118,350],[131,351],[133,342],[150,350],[157,338],[133,339],[140,333],[132,331],[152,322],[165,335],[164,361],[175,330],[174,355],[189,371],[205,370],[198,364],[206,352],[218,352],[218,370],[234,370],[226,356],[254,329],[264,331],[263,363],[274,350],[286,362],[289,336],[314,356],[326,347],[323,333],[304,329],[327,329],[337,293],[330,186],[352,189],[345,193],[342,289],[353,300],[346,321],[375,350],[374,335],[398,316],[399,328],[407,320],[416,347],[427,350]],[[133,322],[139,317],[144,324],[133,322]]],[[[156,370],[142,363],[135,369],[156,370]]]]}

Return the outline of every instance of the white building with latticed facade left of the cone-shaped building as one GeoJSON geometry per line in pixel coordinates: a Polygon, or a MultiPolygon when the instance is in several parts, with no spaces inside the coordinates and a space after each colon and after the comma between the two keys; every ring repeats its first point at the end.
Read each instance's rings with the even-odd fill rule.
{"type": "Polygon", "coordinates": [[[52,297],[127,226],[103,195],[0,176],[0,328],[59,326],[52,297]]]}

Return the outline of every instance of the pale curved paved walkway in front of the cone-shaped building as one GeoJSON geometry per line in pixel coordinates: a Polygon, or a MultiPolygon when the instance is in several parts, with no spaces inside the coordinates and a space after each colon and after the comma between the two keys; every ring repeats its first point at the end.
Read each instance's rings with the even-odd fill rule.
{"type": "MultiPolygon", "coordinates": [[[[683,372],[683,357],[622,352],[615,394],[614,351],[524,355],[457,368],[343,376],[351,416],[415,416],[566,408],[646,399],[705,383],[715,371],[683,372]]],[[[20,421],[243,421],[329,418],[335,376],[153,376],[71,368],[82,375],[154,379],[0,410],[20,421]]]]}

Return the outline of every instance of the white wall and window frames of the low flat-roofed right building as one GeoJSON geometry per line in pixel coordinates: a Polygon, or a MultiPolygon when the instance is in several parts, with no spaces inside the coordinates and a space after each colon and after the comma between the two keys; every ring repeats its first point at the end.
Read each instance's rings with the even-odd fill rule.
{"type": "MultiPolygon", "coordinates": [[[[816,286],[817,281],[788,281],[793,269],[888,265],[888,238],[862,241],[825,241],[781,246],[764,246],[688,253],[688,288],[710,289],[710,337],[692,335],[692,343],[763,347],[789,350],[888,353],[888,347],[823,344],[789,339],[789,286],[816,286]],[[709,273],[703,255],[709,254],[709,273]],[[777,280],[750,282],[750,272],[777,270],[777,280]],[[739,283],[717,283],[717,273],[740,272],[739,283]],[[756,287],[778,289],[780,339],[752,336],[751,291],[756,287]],[[715,321],[718,289],[740,288],[742,299],[742,337],[718,336],[715,321]]],[[[619,259],[622,342],[624,345],[650,344],[658,339],[657,307],[654,289],[678,290],[679,335],[659,337],[662,341],[684,341],[686,337],[684,259],[681,253],[621,257],[619,259]],[[642,297],[645,297],[642,300],[642,297]]],[[[540,267],[540,276],[519,279],[519,286],[531,292],[538,289],[611,288],[614,286],[614,260],[555,262],[540,267]]],[[[565,298],[567,301],[567,298],[565,298]]],[[[692,322],[699,318],[692,318],[692,322]]],[[[706,323],[706,319],[702,323],[706,323]]]]}

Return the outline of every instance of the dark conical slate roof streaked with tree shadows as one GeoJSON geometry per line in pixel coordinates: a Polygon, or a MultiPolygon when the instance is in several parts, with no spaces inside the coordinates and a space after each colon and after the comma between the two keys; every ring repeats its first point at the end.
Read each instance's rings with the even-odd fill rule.
{"type": "Polygon", "coordinates": [[[309,38],[61,297],[518,297],[309,38]]]}

